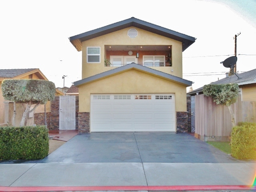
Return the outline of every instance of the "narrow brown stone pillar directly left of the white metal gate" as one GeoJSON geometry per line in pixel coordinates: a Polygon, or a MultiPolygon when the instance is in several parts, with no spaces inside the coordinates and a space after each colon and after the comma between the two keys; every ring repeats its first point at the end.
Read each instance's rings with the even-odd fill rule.
{"type": "Polygon", "coordinates": [[[51,102],[51,126],[49,130],[59,130],[59,116],[60,116],[60,97],[55,96],[51,102]]]}

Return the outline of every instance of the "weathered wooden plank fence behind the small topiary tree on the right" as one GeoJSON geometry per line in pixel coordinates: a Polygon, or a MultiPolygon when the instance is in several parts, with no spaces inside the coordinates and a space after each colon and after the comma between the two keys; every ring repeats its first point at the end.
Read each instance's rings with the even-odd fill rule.
{"type": "MultiPolygon", "coordinates": [[[[236,123],[256,122],[256,102],[242,102],[241,97],[231,105],[236,123]]],[[[195,136],[203,141],[229,141],[232,130],[227,106],[217,105],[211,97],[195,96],[195,136]]]]}

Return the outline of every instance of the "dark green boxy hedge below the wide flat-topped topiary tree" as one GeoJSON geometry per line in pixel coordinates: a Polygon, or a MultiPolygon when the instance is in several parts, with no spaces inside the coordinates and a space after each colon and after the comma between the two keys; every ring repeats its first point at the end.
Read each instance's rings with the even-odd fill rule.
{"type": "Polygon", "coordinates": [[[0,160],[43,159],[48,152],[45,126],[0,127],[0,160]]]}

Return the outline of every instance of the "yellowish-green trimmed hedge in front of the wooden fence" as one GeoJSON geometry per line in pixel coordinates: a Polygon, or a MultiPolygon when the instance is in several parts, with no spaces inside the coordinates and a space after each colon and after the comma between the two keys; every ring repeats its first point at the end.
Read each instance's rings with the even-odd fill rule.
{"type": "Polygon", "coordinates": [[[256,125],[243,123],[231,132],[231,152],[236,159],[256,160],[256,125]]]}

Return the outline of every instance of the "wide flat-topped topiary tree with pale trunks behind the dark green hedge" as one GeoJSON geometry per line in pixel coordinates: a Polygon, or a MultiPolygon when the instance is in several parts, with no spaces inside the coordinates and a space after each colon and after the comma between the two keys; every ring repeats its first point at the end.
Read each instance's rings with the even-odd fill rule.
{"type": "Polygon", "coordinates": [[[20,127],[24,126],[28,113],[34,111],[38,105],[54,100],[55,91],[55,84],[47,80],[6,79],[2,82],[4,99],[14,102],[14,118],[16,115],[16,103],[27,104],[26,110],[22,115],[20,127]],[[30,110],[32,104],[36,105],[30,110]]]}

